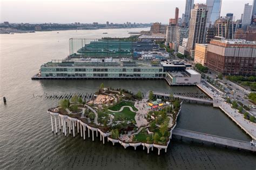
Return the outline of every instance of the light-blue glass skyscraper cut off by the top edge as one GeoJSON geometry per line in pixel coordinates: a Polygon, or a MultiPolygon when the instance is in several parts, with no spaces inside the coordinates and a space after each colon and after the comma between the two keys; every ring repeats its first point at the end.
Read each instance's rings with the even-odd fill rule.
{"type": "Polygon", "coordinates": [[[221,0],[207,0],[207,26],[213,25],[220,17],[221,0]]]}

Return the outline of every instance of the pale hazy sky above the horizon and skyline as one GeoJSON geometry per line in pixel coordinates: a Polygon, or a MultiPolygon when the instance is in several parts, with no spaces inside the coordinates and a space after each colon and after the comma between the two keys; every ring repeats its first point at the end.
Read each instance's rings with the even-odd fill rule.
{"type": "MultiPolygon", "coordinates": [[[[186,0],[0,0],[0,22],[9,23],[168,23],[185,11],[186,0]]],[[[253,0],[223,0],[221,16],[241,18],[244,5],[253,0]]],[[[206,0],[194,0],[206,3],[206,0]]]]}

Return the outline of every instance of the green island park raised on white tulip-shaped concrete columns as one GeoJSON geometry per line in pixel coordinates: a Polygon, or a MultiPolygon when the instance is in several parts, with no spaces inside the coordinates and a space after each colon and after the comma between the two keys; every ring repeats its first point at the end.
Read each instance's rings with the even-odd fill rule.
{"type": "Polygon", "coordinates": [[[182,100],[157,99],[152,91],[136,94],[124,89],[112,89],[100,85],[89,101],[78,96],[61,99],[57,107],[49,108],[52,132],[92,138],[100,141],[150,149],[165,149],[170,144],[172,130],[176,126],[182,100]],[[53,121],[54,120],[54,121],[53,121]],[[58,123],[58,125],[57,125],[58,123]],[[55,126],[55,128],[54,128],[55,126]],[[87,132],[86,132],[87,131],[87,132]],[[87,134],[87,137],[86,137],[87,134]]]}

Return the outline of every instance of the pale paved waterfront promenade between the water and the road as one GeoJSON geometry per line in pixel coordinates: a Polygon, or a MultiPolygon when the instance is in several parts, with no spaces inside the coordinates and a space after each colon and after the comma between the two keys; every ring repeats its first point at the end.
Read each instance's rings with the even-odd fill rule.
{"type": "Polygon", "coordinates": [[[228,115],[242,130],[244,130],[250,137],[256,140],[256,124],[249,120],[244,119],[244,115],[239,113],[238,110],[232,108],[231,104],[226,103],[225,99],[218,94],[213,93],[208,87],[203,84],[197,85],[199,89],[203,90],[206,94],[213,98],[213,107],[219,107],[225,114],[228,115]]]}

